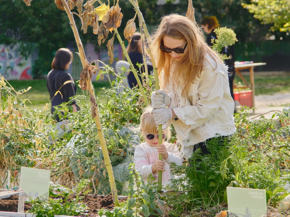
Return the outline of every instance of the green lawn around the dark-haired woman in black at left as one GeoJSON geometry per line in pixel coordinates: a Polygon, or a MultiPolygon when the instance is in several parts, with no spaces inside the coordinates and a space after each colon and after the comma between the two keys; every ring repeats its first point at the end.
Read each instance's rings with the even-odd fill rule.
{"type": "MultiPolygon", "coordinates": [[[[29,91],[26,93],[23,93],[21,95],[21,99],[28,99],[29,102],[26,102],[26,105],[31,108],[38,108],[39,110],[44,112],[44,108],[46,106],[46,103],[48,103],[48,109],[46,112],[50,112],[50,97],[49,93],[46,87],[46,79],[35,79],[35,80],[9,80],[8,81],[12,87],[16,90],[22,90],[22,89],[27,89],[28,87],[31,87],[29,91]]],[[[78,82],[76,82],[76,85],[78,82]]],[[[97,81],[97,82],[92,82],[94,89],[95,89],[95,95],[100,95],[101,93],[101,88],[102,87],[110,87],[109,81],[97,81]]],[[[84,95],[86,102],[90,103],[89,100],[89,95],[87,95],[86,91],[81,91],[79,86],[77,85],[77,95],[84,95]]],[[[101,98],[101,100],[97,103],[102,103],[106,102],[106,99],[101,98]]]]}

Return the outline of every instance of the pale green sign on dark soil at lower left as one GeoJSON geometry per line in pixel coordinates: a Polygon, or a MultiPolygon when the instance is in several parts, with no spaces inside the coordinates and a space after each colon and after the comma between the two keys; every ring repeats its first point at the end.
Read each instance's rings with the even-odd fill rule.
{"type": "Polygon", "coordinates": [[[32,199],[48,199],[50,170],[21,167],[20,187],[32,199]]]}

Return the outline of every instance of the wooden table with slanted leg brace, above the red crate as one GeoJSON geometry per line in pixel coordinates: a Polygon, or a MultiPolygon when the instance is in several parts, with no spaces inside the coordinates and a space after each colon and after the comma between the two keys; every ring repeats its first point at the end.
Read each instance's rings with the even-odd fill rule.
{"type": "Polygon", "coordinates": [[[257,63],[246,63],[246,64],[235,64],[235,73],[242,79],[242,81],[246,84],[242,86],[242,88],[249,87],[252,90],[252,106],[255,107],[255,82],[254,82],[254,67],[255,66],[263,66],[266,65],[266,62],[257,62],[257,63]],[[241,73],[241,70],[249,69],[250,71],[250,83],[246,81],[244,76],[241,73]]]}

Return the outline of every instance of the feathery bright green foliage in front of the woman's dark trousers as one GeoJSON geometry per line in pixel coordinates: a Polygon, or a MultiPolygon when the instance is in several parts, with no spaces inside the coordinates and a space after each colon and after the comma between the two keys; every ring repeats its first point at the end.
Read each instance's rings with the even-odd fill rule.
{"type": "Polygon", "coordinates": [[[187,197],[182,200],[189,210],[196,205],[207,209],[214,204],[221,204],[226,186],[230,183],[229,168],[223,164],[229,156],[229,140],[214,138],[206,146],[210,154],[201,155],[200,149],[197,149],[189,158],[188,165],[175,169],[178,177],[173,180],[175,191],[186,192],[187,197]],[[184,172],[183,176],[180,171],[184,172]]]}

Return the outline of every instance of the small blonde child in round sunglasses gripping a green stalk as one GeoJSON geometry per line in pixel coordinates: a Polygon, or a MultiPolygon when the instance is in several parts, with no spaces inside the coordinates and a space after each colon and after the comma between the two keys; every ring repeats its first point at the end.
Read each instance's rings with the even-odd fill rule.
{"type": "Polygon", "coordinates": [[[170,128],[162,132],[162,144],[159,145],[158,129],[153,115],[150,114],[151,111],[151,106],[146,107],[140,118],[140,125],[137,129],[142,131],[145,142],[136,146],[134,163],[145,184],[150,174],[155,177],[155,181],[157,182],[158,171],[163,171],[162,185],[166,186],[171,183],[170,179],[174,178],[170,169],[171,163],[181,165],[183,159],[178,155],[176,144],[165,141],[165,137],[167,140],[170,139],[170,128]],[[159,160],[159,154],[163,155],[163,160],[159,160]]]}

